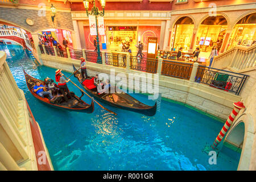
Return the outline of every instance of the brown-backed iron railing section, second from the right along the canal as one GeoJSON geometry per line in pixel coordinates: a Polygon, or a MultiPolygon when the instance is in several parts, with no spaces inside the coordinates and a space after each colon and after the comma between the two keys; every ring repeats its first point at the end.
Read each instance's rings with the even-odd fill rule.
{"type": "Polygon", "coordinates": [[[162,75],[189,80],[193,64],[163,60],[162,75]]]}

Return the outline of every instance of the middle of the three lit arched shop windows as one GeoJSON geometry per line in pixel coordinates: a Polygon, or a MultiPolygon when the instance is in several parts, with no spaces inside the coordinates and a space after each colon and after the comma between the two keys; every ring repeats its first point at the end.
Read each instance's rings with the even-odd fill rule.
{"type": "Polygon", "coordinates": [[[217,46],[220,50],[227,28],[228,22],[224,16],[209,16],[199,26],[196,35],[196,47],[205,53],[210,53],[213,46],[217,46]]]}

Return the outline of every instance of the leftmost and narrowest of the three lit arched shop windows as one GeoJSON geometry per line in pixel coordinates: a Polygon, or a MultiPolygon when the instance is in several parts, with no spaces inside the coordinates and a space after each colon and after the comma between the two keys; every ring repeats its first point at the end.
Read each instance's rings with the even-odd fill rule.
{"type": "Polygon", "coordinates": [[[188,52],[191,46],[194,23],[188,16],[182,17],[174,25],[174,34],[171,40],[171,50],[177,51],[180,47],[188,52]]]}

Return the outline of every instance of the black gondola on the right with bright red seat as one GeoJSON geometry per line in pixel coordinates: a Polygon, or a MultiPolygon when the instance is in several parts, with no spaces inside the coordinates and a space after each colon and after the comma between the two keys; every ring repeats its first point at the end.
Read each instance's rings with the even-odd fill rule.
{"type": "Polygon", "coordinates": [[[74,69],[74,76],[77,78],[80,84],[84,87],[84,89],[91,96],[96,98],[96,100],[104,102],[105,104],[118,107],[119,109],[130,110],[130,111],[134,111],[134,112],[141,113],[148,116],[155,115],[156,102],[154,106],[148,106],[136,100],[135,98],[131,97],[129,94],[125,92],[117,93],[115,91],[115,93],[97,94],[97,88],[93,85],[94,77],[89,77],[89,79],[86,79],[82,82],[81,73],[77,71],[74,65],[73,65],[73,69],[74,69]],[[85,81],[86,81],[86,85],[84,85],[85,81]],[[89,85],[88,85],[88,82],[90,82],[89,85]]]}

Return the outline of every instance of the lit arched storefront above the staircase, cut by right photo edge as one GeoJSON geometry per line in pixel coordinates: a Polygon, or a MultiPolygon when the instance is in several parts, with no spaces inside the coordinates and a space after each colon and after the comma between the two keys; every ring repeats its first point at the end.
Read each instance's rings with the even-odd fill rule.
{"type": "Polygon", "coordinates": [[[237,22],[229,39],[228,49],[236,46],[252,46],[256,42],[256,13],[250,14],[237,22]]]}

